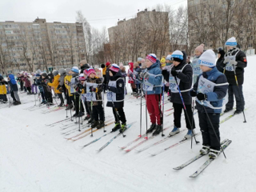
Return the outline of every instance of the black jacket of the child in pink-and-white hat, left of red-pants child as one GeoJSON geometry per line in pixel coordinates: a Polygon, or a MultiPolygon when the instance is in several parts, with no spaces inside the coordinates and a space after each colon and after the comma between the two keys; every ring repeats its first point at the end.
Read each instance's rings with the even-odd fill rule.
{"type": "Polygon", "coordinates": [[[114,74],[113,77],[110,77],[110,81],[116,81],[117,87],[107,85],[107,90],[110,90],[116,93],[116,100],[120,102],[114,102],[114,106],[113,106],[112,102],[108,101],[106,103],[106,106],[122,108],[124,106],[124,99],[125,99],[125,82],[122,78],[121,70],[119,70],[118,73],[114,74]]]}

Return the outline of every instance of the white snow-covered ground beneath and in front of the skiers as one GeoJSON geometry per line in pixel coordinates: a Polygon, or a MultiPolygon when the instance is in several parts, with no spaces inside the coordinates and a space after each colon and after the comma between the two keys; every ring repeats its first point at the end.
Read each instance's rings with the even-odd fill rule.
{"type": "MultiPolygon", "coordinates": [[[[243,114],[224,122],[220,126],[221,138],[232,140],[225,150],[227,159],[221,154],[199,174],[197,178],[189,178],[191,174],[206,162],[207,157],[202,157],[186,166],[182,170],[173,170],[198,154],[202,147],[202,136],[197,139],[198,145],[193,141],[193,150],[190,142],[166,150],[162,154],[152,157],[150,153],[158,152],[182,140],[186,131],[175,135],[173,138],[162,142],[158,146],[138,153],[136,150],[158,142],[162,139],[159,134],[129,153],[118,146],[125,146],[128,142],[138,138],[140,120],[140,98],[126,96],[125,113],[127,123],[134,122],[126,130],[126,137],[114,139],[109,146],[100,152],[96,151],[114,134],[108,134],[98,142],[82,149],[82,146],[103,135],[103,130],[94,132],[76,142],[68,141],[78,134],[78,126],[67,127],[70,123],[62,122],[57,126],[46,126],[66,118],[66,110],[58,110],[49,114],[44,106],[40,110],[25,110],[34,106],[34,95],[20,94],[22,102],[29,102],[20,106],[2,108],[0,105],[0,191],[1,192],[77,192],[77,191],[256,191],[256,56],[248,57],[248,66],[245,72],[243,91],[246,99],[246,120],[243,114]],[[63,130],[66,128],[65,130],[63,130]],[[76,129],[74,133],[64,133],[76,129]]],[[[166,97],[166,95],[165,95],[166,97]]],[[[166,98],[165,98],[166,99],[166,98]]],[[[59,102],[59,100],[58,100],[59,102]]],[[[165,110],[172,108],[168,102],[165,110]]],[[[165,114],[170,114],[172,110],[165,114]]],[[[74,112],[73,112],[74,114],[74,112]]],[[[146,132],[145,106],[142,106],[142,134],[146,132]]],[[[224,114],[221,120],[231,114],[224,114]]],[[[106,107],[106,120],[113,122],[111,108],[106,107]]],[[[70,111],[68,113],[70,117],[70,111]]],[[[195,114],[196,132],[198,114],[195,114]]],[[[86,122],[84,122],[86,124],[86,122]]],[[[106,126],[109,133],[114,124],[106,126]]],[[[148,126],[150,118],[148,117],[148,126]]],[[[164,132],[169,134],[173,127],[173,115],[164,116],[164,127],[170,127],[164,132]]],[[[182,129],[186,124],[182,118],[182,129]]],[[[88,127],[82,126],[82,130],[88,127]]],[[[139,141],[142,141],[141,138],[139,141]]],[[[133,145],[137,144],[135,142],[133,145]]]]}

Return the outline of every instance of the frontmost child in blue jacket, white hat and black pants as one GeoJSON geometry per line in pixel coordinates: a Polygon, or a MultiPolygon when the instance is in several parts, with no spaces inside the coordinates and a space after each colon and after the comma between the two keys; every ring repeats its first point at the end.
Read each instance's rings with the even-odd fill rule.
{"type": "Polygon", "coordinates": [[[202,54],[198,60],[202,74],[198,76],[193,90],[190,91],[190,95],[196,97],[199,126],[202,131],[200,153],[208,154],[210,152],[210,158],[217,158],[220,154],[219,118],[222,113],[223,98],[226,96],[228,88],[226,76],[218,71],[215,58],[213,50],[206,50],[202,54]]]}

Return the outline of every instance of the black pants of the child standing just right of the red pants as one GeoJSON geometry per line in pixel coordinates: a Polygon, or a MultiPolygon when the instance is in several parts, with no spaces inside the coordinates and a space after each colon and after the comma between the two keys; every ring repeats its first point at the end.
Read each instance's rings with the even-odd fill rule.
{"type": "MultiPolygon", "coordinates": [[[[178,128],[180,128],[181,127],[181,117],[182,117],[183,105],[178,104],[178,103],[173,103],[173,106],[174,106],[174,126],[177,126],[178,128]]],[[[186,112],[189,116],[189,118],[187,118],[186,112],[184,110],[184,115],[185,115],[185,119],[186,119],[186,128],[191,130],[190,123],[192,124],[192,121],[193,121],[193,129],[195,128],[195,126],[194,126],[194,115],[192,113],[191,105],[185,105],[185,106],[186,106],[186,112]]]]}

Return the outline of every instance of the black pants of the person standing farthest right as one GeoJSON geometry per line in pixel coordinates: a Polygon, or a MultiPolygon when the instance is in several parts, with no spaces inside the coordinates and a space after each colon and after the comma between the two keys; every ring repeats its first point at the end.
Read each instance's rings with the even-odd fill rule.
{"type": "Polygon", "coordinates": [[[236,101],[236,107],[237,110],[244,110],[245,107],[245,99],[243,98],[242,94],[242,85],[238,86],[237,85],[229,85],[228,87],[228,94],[229,94],[229,102],[226,103],[226,109],[233,109],[234,106],[234,98],[236,101]],[[241,95],[241,99],[240,99],[241,95]]]}

